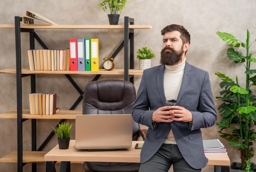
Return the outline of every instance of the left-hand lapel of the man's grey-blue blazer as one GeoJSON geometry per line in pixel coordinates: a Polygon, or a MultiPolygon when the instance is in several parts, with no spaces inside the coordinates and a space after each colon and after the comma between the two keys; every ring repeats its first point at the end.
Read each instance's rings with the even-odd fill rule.
{"type": "Polygon", "coordinates": [[[164,94],[164,65],[160,65],[157,71],[157,89],[164,105],[166,101],[164,94]]]}

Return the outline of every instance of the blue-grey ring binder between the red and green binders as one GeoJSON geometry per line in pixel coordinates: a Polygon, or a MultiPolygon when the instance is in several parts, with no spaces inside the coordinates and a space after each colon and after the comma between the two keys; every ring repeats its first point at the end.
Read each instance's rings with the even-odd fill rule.
{"type": "Polygon", "coordinates": [[[77,39],[77,70],[85,71],[85,46],[84,39],[77,39]]]}

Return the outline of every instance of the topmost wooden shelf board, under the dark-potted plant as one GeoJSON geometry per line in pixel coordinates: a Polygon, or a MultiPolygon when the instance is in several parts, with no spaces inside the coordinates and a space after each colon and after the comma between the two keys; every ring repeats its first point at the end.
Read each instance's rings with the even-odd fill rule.
{"type": "MultiPolygon", "coordinates": [[[[0,28],[15,28],[14,24],[0,24],[0,28]]],[[[124,25],[41,25],[41,24],[21,24],[20,28],[30,29],[124,29],[124,25]]],[[[151,29],[150,25],[129,25],[130,29],[151,29]]]]}

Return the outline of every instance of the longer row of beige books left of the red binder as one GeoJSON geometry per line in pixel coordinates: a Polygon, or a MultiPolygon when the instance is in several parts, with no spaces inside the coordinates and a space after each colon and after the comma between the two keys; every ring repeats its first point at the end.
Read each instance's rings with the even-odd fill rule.
{"type": "Polygon", "coordinates": [[[27,50],[29,70],[70,70],[67,50],[27,50]]]}

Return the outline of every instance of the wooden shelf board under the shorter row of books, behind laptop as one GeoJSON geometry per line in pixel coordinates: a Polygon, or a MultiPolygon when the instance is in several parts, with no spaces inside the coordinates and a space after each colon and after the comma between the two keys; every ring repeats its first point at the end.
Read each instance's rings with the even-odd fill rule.
{"type": "MultiPolygon", "coordinates": [[[[75,119],[76,115],[82,114],[82,111],[77,110],[60,110],[54,115],[30,115],[29,109],[23,109],[22,118],[23,119],[75,119]]],[[[10,111],[0,114],[0,118],[17,118],[17,110],[12,109],[10,111]]]]}

